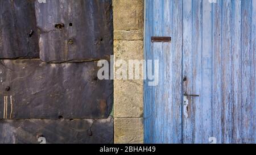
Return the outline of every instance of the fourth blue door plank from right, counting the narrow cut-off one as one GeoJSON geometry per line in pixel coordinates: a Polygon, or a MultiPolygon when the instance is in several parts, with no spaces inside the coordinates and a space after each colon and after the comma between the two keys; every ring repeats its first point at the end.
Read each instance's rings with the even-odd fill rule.
{"type": "Polygon", "coordinates": [[[232,3],[222,1],[222,143],[232,143],[232,3]]]}

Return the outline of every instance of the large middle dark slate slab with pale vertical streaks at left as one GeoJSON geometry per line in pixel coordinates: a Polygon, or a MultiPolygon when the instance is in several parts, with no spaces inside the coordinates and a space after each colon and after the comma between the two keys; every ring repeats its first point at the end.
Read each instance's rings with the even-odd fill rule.
{"type": "Polygon", "coordinates": [[[113,81],[97,72],[97,62],[1,60],[0,119],[107,118],[113,81]]]}

